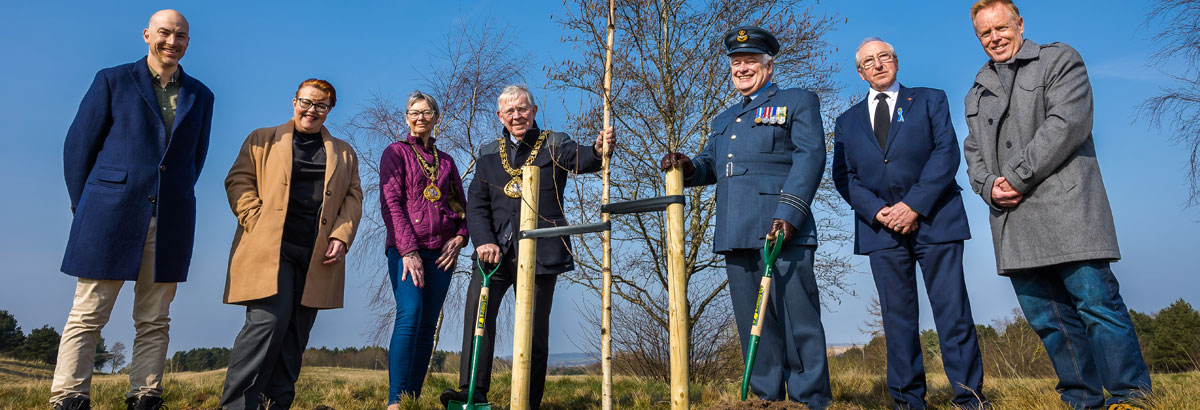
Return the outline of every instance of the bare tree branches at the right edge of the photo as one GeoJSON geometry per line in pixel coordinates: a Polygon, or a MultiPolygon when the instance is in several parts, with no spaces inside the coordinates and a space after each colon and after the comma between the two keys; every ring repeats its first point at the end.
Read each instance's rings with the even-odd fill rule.
{"type": "Polygon", "coordinates": [[[1153,36],[1159,49],[1151,66],[1181,68],[1168,73],[1175,86],[1144,101],[1138,111],[1151,126],[1171,133],[1171,141],[1189,150],[1187,206],[1200,205],[1200,0],[1153,0],[1145,25],[1162,23],[1153,36]]]}

